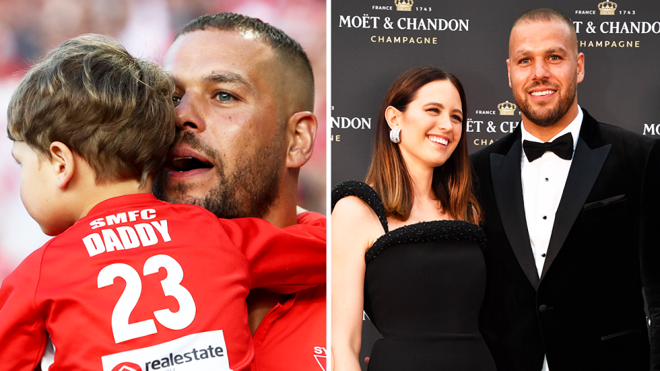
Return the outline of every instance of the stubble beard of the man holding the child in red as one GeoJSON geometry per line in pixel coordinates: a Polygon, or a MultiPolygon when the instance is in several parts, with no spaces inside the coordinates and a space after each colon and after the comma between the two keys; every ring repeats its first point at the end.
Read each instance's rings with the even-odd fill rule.
{"type": "Polygon", "coordinates": [[[234,170],[225,173],[225,163],[217,150],[204,146],[195,134],[177,133],[175,143],[185,143],[212,159],[218,182],[203,197],[187,196],[189,184],[168,184],[167,174],[161,170],[154,182],[153,193],[158,199],[170,203],[199,205],[219,218],[263,218],[274,206],[279,190],[281,154],[278,144],[284,143],[284,132],[278,130],[270,141],[272,146],[261,146],[256,153],[236,159],[234,170]],[[171,196],[167,196],[169,188],[171,196]]]}

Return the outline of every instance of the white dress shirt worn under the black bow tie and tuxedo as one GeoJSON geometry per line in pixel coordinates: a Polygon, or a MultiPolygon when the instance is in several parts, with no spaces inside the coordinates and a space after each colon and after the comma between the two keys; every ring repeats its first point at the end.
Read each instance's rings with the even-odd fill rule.
{"type": "MultiPolygon", "coordinates": [[[[573,135],[573,150],[575,150],[577,137],[580,135],[580,127],[582,126],[582,116],[582,109],[577,106],[575,120],[550,139],[550,142],[566,133],[571,133],[573,135]]],[[[522,140],[543,142],[525,130],[525,122],[522,122],[522,140]]],[[[548,252],[552,227],[555,224],[555,214],[564,193],[564,185],[566,185],[566,178],[569,176],[572,161],[572,157],[570,160],[565,160],[551,152],[544,153],[533,162],[529,162],[527,156],[525,156],[525,151],[522,151],[520,156],[522,201],[525,205],[529,243],[531,244],[531,252],[536,262],[536,271],[539,278],[548,252]]],[[[542,371],[548,371],[548,363],[545,358],[543,359],[542,371]]]]}

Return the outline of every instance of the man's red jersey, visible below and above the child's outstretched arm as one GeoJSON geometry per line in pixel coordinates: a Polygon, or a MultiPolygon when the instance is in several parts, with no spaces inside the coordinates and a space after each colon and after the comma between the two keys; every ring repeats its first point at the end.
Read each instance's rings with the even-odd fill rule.
{"type": "MultiPolygon", "coordinates": [[[[316,213],[298,215],[313,225],[316,213]]],[[[325,371],[326,286],[300,291],[266,315],[254,333],[252,371],[325,371]]]]}

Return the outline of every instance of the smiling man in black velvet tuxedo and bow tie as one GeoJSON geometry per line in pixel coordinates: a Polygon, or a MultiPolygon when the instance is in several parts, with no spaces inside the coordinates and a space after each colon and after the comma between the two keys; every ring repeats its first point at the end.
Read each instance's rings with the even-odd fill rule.
{"type": "Polygon", "coordinates": [[[522,124],[472,155],[498,370],[660,369],[660,141],[580,109],[584,54],[560,12],[520,16],[507,67],[522,124]]]}

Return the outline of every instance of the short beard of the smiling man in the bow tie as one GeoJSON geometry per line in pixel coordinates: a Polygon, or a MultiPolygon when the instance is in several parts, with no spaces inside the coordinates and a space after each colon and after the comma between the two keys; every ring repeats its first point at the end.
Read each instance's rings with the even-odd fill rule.
{"type": "Polygon", "coordinates": [[[575,101],[575,95],[577,95],[577,76],[573,78],[571,85],[569,85],[568,89],[566,89],[566,95],[559,93],[559,90],[557,90],[560,94],[559,102],[552,108],[546,108],[543,106],[536,109],[531,108],[529,97],[527,97],[527,93],[525,93],[525,91],[529,91],[529,89],[533,89],[539,86],[554,88],[549,83],[541,80],[534,82],[533,85],[529,87],[526,87],[522,93],[522,96],[520,96],[518,90],[511,90],[514,93],[514,100],[516,100],[516,103],[518,103],[520,112],[522,112],[525,117],[529,119],[529,121],[542,127],[553,126],[559,122],[559,120],[561,120],[562,117],[566,115],[566,113],[569,112],[569,109],[571,109],[571,104],[573,104],[573,101],[575,101]]]}

